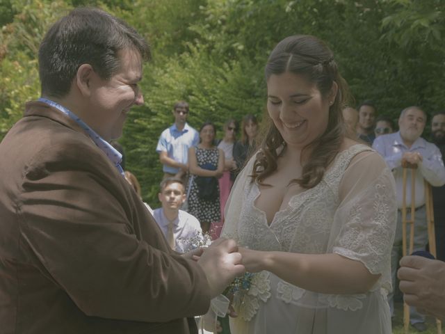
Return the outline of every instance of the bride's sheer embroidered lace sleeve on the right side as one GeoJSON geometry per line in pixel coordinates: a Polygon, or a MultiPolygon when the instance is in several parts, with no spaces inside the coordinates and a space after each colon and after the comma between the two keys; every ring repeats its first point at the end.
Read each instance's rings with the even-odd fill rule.
{"type": "MultiPolygon", "coordinates": [[[[389,283],[391,247],[396,230],[394,177],[375,152],[357,154],[339,185],[339,209],[334,215],[330,249],[362,262],[389,283]]],[[[383,282],[382,282],[383,281],[383,282]]]]}

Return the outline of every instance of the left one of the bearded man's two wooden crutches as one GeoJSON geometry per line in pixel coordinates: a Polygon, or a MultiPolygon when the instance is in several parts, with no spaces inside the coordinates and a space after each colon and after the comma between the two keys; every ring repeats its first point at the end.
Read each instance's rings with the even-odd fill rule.
{"type": "MultiPolygon", "coordinates": [[[[403,198],[402,198],[402,254],[407,255],[407,240],[406,240],[406,225],[410,224],[410,250],[408,254],[412,253],[414,249],[414,210],[416,196],[415,196],[415,184],[416,184],[416,168],[417,165],[409,164],[406,161],[402,163],[403,167],[403,198]],[[411,215],[410,220],[407,220],[406,216],[406,182],[407,182],[407,171],[411,171],[411,215]]],[[[410,328],[410,306],[403,301],[403,329],[405,333],[409,333],[410,328]]]]}

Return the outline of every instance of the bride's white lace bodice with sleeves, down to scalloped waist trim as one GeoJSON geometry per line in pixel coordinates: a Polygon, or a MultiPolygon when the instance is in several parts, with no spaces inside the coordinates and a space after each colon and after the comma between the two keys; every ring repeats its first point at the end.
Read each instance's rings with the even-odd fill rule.
{"type": "MultiPolygon", "coordinates": [[[[252,161],[246,168],[251,166],[252,161]]],[[[255,250],[337,253],[359,260],[371,273],[381,275],[370,293],[391,289],[390,253],[396,224],[394,179],[369,147],[353,145],[340,152],[323,180],[291,197],[289,205],[275,214],[270,225],[266,214],[254,205],[259,187],[249,177],[243,179],[243,175],[238,177],[229,199],[223,235],[255,250]],[[351,163],[361,152],[366,152],[364,157],[351,163]],[[375,161],[375,166],[369,166],[375,161]],[[348,192],[344,193],[344,189],[348,192]]],[[[257,274],[249,292],[236,299],[238,314],[249,321],[272,295],[284,303],[341,310],[359,310],[368,298],[367,294],[309,292],[264,271],[257,274]]]]}

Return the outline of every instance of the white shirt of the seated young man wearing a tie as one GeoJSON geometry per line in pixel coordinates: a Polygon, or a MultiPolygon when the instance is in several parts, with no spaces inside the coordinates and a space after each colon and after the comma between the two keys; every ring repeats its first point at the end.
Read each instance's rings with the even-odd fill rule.
{"type": "MultiPolygon", "coordinates": [[[[165,238],[168,237],[168,224],[170,221],[163,212],[162,207],[154,209],[154,220],[158,223],[165,238]]],[[[187,241],[196,239],[197,237],[202,239],[201,224],[188,212],[179,210],[177,218],[173,223],[173,237],[175,238],[175,250],[179,253],[185,253],[187,249],[187,241]]]]}

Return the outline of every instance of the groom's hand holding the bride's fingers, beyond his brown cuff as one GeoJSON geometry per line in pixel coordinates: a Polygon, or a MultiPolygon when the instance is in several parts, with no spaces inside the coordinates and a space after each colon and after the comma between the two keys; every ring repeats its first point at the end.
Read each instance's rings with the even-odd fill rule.
{"type": "Polygon", "coordinates": [[[220,238],[202,253],[197,263],[206,273],[212,298],[221,294],[235,276],[245,272],[241,260],[238,246],[232,239],[220,238]]]}

